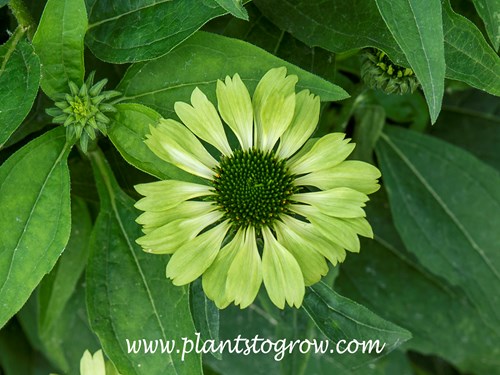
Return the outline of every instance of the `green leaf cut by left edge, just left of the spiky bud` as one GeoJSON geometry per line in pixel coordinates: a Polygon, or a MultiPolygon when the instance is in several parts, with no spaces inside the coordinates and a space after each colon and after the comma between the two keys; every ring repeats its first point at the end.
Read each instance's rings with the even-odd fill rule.
{"type": "Polygon", "coordinates": [[[0,149],[30,111],[40,82],[40,60],[18,28],[0,46],[0,149]]]}

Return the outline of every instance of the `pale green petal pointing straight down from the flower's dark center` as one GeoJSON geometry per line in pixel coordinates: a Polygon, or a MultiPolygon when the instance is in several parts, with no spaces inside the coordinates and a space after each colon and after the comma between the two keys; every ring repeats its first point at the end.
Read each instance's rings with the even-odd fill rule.
{"type": "Polygon", "coordinates": [[[249,227],[228,271],[227,295],[235,305],[244,309],[255,300],[261,284],[262,260],[257,249],[255,229],[249,227]]]}

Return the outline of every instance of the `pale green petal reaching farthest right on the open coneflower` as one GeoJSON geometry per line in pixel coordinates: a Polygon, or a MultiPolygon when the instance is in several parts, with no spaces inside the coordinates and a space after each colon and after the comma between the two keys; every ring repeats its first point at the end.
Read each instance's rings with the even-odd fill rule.
{"type": "Polygon", "coordinates": [[[348,187],[365,194],[376,192],[380,185],[380,171],[371,164],[358,160],[346,160],[339,165],[312,172],[295,180],[297,186],[315,186],[322,190],[348,187]]]}

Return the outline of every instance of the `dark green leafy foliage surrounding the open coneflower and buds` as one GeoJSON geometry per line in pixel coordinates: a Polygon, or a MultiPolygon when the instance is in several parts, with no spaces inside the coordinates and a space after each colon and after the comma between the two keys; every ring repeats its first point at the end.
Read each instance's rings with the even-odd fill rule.
{"type": "Polygon", "coordinates": [[[500,374],[498,0],[0,0],[0,374],[79,374],[88,349],[129,374],[500,374]],[[421,90],[360,80],[363,48],[421,90]],[[376,164],[375,238],[306,292],[217,310],[174,287],[135,239],[133,186],[197,179],[145,146],[176,101],[286,66],[319,95],[314,136],[346,132],[376,164]],[[113,103],[87,155],[51,124],[68,81],[96,71],[113,103]],[[128,354],[126,339],[379,339],[383,356],[128,354]]]}

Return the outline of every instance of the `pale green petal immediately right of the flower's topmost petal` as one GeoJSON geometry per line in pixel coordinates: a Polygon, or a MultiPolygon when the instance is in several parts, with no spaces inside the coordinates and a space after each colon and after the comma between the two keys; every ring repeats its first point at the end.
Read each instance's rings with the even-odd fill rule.
{"type": "Polygon", "coordinates": [[[309,90],[302,90],[297,94],[292,123],[280,139],[280,158],[289,158],[309,139],[318,124],[319,109],[319,96],[311,94],[309,90]]]}

